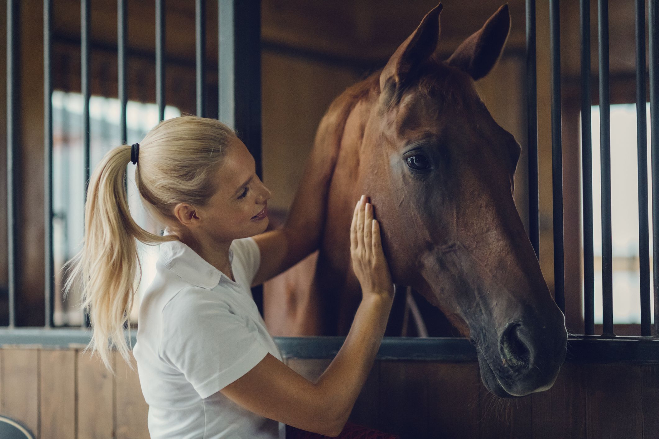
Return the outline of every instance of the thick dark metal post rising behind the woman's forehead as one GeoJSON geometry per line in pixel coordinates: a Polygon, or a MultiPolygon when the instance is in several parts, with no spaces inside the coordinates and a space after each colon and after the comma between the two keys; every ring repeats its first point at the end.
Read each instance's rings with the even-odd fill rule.
{"type": "MultiPolygon", "coordinates": [[[[219,120],[233,127],[261,165],[261,1],[219,0],[219,120]]],[[[263,315],[262,286],[252,296],[263,315]]]]}

